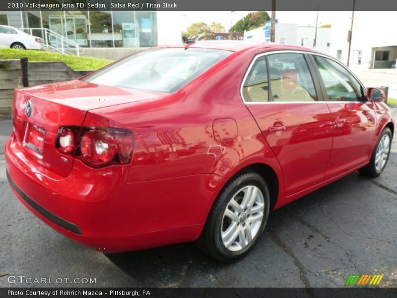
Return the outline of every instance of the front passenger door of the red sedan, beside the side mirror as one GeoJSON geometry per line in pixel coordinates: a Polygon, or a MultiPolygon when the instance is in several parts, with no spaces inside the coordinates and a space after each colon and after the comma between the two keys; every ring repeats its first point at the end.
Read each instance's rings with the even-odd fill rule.
{"type": "Polygon", "coordinates": [[[364,87],[341,63],[312,55],[322,97],[332,116],[333,143],[326,179],[363,165],[372,154],[376,107],[367,101],[364,87]]]}

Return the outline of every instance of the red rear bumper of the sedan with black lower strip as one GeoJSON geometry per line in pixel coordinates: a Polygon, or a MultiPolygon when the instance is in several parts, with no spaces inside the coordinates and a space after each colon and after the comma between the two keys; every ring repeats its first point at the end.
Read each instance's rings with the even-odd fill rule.
{"type": "Polygon", "coordinates": [[[203,174],[129,184],[128,167],[92,169],[80,160],[64,177],[25,156],[14,135],[5,157],[9,183],[32,213],[67,237],[104,252],[197,239],[217,181],[203,174]],[[192,185],[203,192],[190,200],[172,191],[179,187],[187,192],[192,185]]]}

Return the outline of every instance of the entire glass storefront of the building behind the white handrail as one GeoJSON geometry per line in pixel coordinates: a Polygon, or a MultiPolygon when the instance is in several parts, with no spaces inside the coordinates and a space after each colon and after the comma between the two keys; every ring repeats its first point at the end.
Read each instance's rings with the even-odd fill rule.
{"type": "MultiPolygon", "coordinates": [[[[0,23],[4,22],[1,16],[0,23]]],[[[155,11],[23,11],[22,24],[24,28],[47,28],[78,43],[80,47],[138,48],[157,45],[155,11]]],[[[26,33],[44,39],[43,30],[30,31],[25,29],[26,33]]]]}

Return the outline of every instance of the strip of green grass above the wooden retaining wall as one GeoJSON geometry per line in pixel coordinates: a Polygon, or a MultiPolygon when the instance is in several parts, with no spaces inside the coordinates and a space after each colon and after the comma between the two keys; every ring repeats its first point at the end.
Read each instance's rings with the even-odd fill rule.
{"type": "Polygon", "coordinates": [[[54,52],[35,50],[0,49],[0,60],[20,59],[27,57],[28,61],[65,62],[73,70],[97,70],[111,63],[111,60],[86,56],[62,55],[54,52]]]}

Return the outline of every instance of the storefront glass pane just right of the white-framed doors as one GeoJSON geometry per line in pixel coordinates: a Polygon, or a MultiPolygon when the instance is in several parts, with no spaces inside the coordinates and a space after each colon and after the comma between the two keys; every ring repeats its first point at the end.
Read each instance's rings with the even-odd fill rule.
{"type": "Polygon", "coordinates": [[[90,11],[91,47],[113,47],[112,15],[109,11],[90,11]]]}

